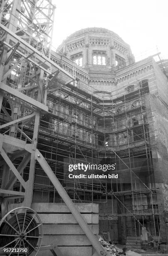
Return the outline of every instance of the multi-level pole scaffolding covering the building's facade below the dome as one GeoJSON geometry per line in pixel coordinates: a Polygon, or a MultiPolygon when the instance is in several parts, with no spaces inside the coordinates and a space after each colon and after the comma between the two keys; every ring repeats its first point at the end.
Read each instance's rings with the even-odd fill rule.
{"type": "MultiPolygon", "coordinates": [[[[47,95],[49,114],[42,115],[40,119],[38,149],[74,202],[106,205],[106,214],[105,211],[102,216],[100,213],[101,220],[133,218],[138,237],[144,218],[151,216],[148,218],[154,218],[157,223],[152,236],[158,236],[156,190],[159,188],[155,185],[151,158],[155,133],[153,112],[148,101],[148,82],[137,82],[131,92],[124,92],[123,95],[115,93],[108,96],[108,100],[104,95],[101,99],[86,93],[82,87],[78,92],[78,87],[67,84],[64,90],[59,87],[47,95]],[[116,172],[122,176],[122,180],[118,182],[116,179],[110,184],[97,179],[66,180],[63,172],[65,159],[69,159],[69,164],[77,161],[116,163],[116,172]],[[126,177],[127,182],[124,181],[126,177]],[[132,200],[128,204],[130,197],[132,200]],[[147,197],[151,200],[150,205],[147,197]],[[107,213],[109,198],[113,209],[110,214],[107,213]],[[115,201],[120,213],[114,211],[115,201]]],[[[32,139],[33,121],[19,128],[32,139]]],[[[23,177],[26,178],[27,173],[25,169],[23,177]]],[[[42,202],[62,202],[57,190],[43,173],[36,164],[34,198],[40,198],[42,202]]]]}

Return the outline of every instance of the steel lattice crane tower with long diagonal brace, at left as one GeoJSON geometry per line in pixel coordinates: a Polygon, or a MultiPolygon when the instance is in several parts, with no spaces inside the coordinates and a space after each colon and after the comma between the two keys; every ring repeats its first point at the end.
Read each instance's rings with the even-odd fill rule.
{"type": "Polygon", "coordinates": [[[57,88],[57,83],[62,87],[74,81],[76,77],[74,65],[71,74],[48,57],[50,56],[48,52],[51,50],[49,40],[55,6],[50,0],[19,0],[9,1],[7,5],[1,7],[0,105],[5,113],[5,119],[4,124],[0,126],[0,155],[3,159],[4,173],[6,174],[7,166],[14,176],[12,181],[10,174],[7,179],[5,174],[3,175],[3,186],[0,188],[1,205],[4,202],[7,205],[10,200],[24,198],[23,205],[31,207],[35,166],[38,161],[89,238],[95,249],[94,255],[109,255],[37,150],[40,116],[50,114],[46,105],[46,91],[53,92],[57,88]],[[9,70],[7,65],[10,67],[9,70]],[[8,110],[3,106],[3,99],[9,106],[8,110]],[[22,129],[27,126],[31,128],[31,134],[29,129],[22,129]],[[7,127],[10,128],[9,131],[6,130],[7,127]],[[15,163],[17,157],[22,159],[19,165],[15,163]],[[27,169],[27,165],[28,175],[25,179],[23,170],[27,169]],[[20,183],[19,191],[13,190],[15,182],[20,183]]]}

